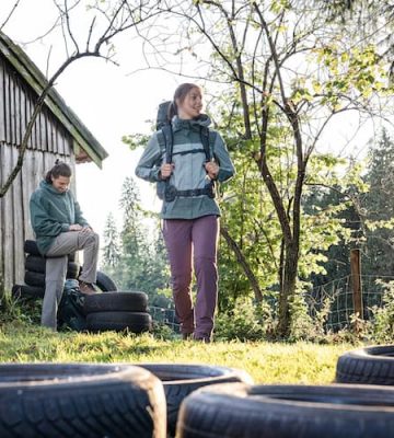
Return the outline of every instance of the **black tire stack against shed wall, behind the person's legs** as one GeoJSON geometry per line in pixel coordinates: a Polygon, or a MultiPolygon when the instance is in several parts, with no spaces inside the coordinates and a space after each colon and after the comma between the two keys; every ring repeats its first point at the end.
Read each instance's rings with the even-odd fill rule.
{"type": "MultiPolygon", "coordinates": [[[[37,299],[45,293],[45,268],[46,260],[39,254],[34,240],[26,240],[24,243],[25,258],[25,285],[14,285],[12,295],[18,298],[37,299]]],[[[76,279],[80,273],[80,264],[76,262],[76,253],[69,255],[67,278],[76,279]]]]}

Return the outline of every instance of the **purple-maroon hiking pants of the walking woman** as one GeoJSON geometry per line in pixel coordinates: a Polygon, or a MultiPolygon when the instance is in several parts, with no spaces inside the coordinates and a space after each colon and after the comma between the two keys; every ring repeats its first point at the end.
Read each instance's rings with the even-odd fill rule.
{"type": "Polygon", "coordinates": [[[163,237],[171,265],[175,312],[183,334],[209,339],[218,301],[217,249],[219,218],[165,219],[163,237]],[[192,274],[197,279],[196,304],[192,298],[192,274]]]}

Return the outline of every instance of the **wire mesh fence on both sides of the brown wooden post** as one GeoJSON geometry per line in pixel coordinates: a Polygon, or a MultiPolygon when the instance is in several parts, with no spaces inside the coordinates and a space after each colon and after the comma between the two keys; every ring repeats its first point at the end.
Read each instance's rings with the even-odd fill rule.
{"type": "MultiPolygon", "coordinates": [[[[351,323],[355,315],[351,279],[352,276],[348,275],[315,287],[305,293],[305,302],[312,318],[316,318],[318,312],[327,312],[326,328],[328,330],[337,331],[351,323]]],[[[363,320],[370,320],[373,318],[373,308],[383,306],[384,291],[394,277],[361,275],[360,280],[363,306],[363,314],[360,316],[363,320]]]]}

